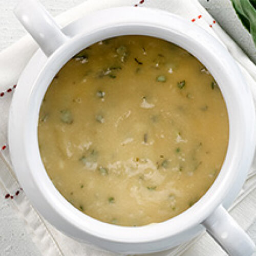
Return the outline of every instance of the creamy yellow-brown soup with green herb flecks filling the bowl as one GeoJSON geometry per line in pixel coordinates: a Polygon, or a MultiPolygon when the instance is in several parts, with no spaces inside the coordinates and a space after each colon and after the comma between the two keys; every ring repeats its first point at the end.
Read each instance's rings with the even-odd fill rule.
{"type": "Polygon", "coordinates": [[[60,193],[116,225],[170,219],[217,177],[228,143],[214,78],[185,50],[120,36],[83,50],[41,104],[42,161],[60,193]]]}

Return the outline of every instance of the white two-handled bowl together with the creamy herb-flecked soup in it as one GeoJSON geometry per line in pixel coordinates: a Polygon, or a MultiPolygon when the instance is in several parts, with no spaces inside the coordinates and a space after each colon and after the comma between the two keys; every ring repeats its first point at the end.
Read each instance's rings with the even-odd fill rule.
{"type": "Polygon", "coordinates": [[[195,24],[151,9],[106,9],[62,31],[32,0],[22,1],[16,15],[41,49],[13,97],[10,154],[18,180],[40,214],[77,240],[122,253],[165,250],[194,238],[205,226],[228,253],[250,255],[254,244],[225,208],[241,189],[253,158],[253,102],[223,45],[195,24]],[[137,38],[146,46],[136,48],[138,52],[132,43],[137,35],[143,35],[137,38]],[[104,41],[108,38],[113,38],[109,45],[104,41]],[[157,53],[148,51],[150,41],[156,42],[157,53]],[[88,47],[105,58],[90,56],[88,47]],[[166,55],[167,48],[173,58],[166,55]],[[175,52],[191,64],[183,58],[175,62],[175,52]],[[95,62],[96,57],[109,62],[95,62]],[[188,73],[179,71],[181,66],[188,73]],[[201,77],[198,84],[188,77],[191,69],[201,77]],[[214,120],[212,125],[208,119],[214,120]],[[52,154],[46,150],[50,144],[52,154]],[[212,162],[210,154],[217,160],[212,162]],[[70,172],[61,173],[62,165],[70,166],[76,179],[68,177],[70,172]],[[67,176],[60,178],[62,174],[67,176]],[[196,185],[201,179],[205,186],[196,185]],[[198,189],[195,197],[189,184],[198,189]],[[180,200],[181,194],[187,201],[180,200]],[[141,199],[146,203],[140,204],[141,199]],[[132,209],[138,205],[141,208],[132,209]],[[127,211],[124,218],[113,215],[119,214],[113,210],[117,207],[127,211]]]}

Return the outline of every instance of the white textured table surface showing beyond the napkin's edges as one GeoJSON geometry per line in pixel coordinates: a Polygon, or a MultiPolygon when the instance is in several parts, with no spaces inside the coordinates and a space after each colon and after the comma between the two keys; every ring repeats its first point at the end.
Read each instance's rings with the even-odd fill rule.
{"type": "MultiPolygon", "coordinates": [[[[55,16],[84,0],[40,0],[42,4],[55,16]]],[[[120,0],[121,1],[121,0],[120,0]]],[[[155,0],[156,1],[156,0],[155,0]]],[[[256,63],[256,50],[252,39],[240,24],[229,0],[199,0],[203,6],[214,16],[217,22],[231,35],[244,49],[251,60],[256,63]]],[[[0,0],[0,51],[25,35],[25,30],[12,13],[18,0],[0,0]]],[[[0,169],[1,172],[1,169],[0,169]]],[[[0,255],[1,256],[40,256],[25,224],[8,207],[8,201],[1,193],[0,186],[0,255]]],[[[256,230],[254,230],[256,235],[256,230]]],[[[199,255],[200,256],[200,255],[199,255]]],[[[209,255],[210,256],[210,255],[209,255]]]]}

